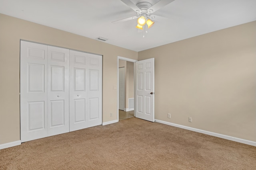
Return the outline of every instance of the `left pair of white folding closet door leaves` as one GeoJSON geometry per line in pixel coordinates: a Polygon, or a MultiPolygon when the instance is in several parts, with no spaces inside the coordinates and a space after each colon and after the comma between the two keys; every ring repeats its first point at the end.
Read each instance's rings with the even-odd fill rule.
{"type": "Polygon", "coordinates": [[[69,50],[20,43],[21,141],[69,132],[69,50]]]}

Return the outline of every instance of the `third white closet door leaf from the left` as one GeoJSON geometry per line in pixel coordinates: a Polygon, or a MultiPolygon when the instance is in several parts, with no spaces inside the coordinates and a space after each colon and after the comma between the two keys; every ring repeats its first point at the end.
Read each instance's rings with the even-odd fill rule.
{"type": "Polygon", "coordinates": [[[70,50],[70,131],[87,127],[87,53],[70,50]]]}

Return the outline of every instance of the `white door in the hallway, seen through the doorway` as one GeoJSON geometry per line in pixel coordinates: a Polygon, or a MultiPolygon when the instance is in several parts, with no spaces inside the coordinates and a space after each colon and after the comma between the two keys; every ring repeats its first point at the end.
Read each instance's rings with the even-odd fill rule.
{"type": "Polygon", "coordinates": [[[124,86],[124,67],[119,68],[119,79],[118,79],[118,98],[119,98],[119,109],[120,110],[124,110],[124,101],[125,101],[125,95],[124,95],[124,90],[125,90],[125,86],[124,86]]]}

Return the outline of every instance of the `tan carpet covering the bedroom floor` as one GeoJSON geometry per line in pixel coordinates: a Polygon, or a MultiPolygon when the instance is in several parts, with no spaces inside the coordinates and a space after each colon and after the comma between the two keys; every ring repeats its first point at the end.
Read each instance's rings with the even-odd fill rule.
{"type": "Polygon", "coordinates": [[[255,170],[256,147],[130,118],[0,150],[1,170],[255,170]]]}

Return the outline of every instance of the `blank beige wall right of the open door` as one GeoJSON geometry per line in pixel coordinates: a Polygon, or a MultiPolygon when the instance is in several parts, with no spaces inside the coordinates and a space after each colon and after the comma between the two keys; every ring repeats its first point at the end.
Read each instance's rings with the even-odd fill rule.
{"type": "Polygon", "coordinates": [[[155,119],[256,141],[256,21],[139,52],[153,57],[155,119]]]}

